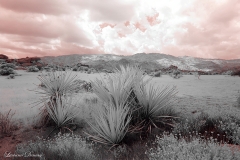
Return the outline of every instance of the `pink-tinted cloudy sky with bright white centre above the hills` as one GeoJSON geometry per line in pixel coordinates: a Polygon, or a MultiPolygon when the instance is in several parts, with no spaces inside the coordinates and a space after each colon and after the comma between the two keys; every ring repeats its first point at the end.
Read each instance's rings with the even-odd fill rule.
{"type": "Polygon", "coordinates": [[[240,59],[239,0],[0,0],[0,54],[240,59]]]}

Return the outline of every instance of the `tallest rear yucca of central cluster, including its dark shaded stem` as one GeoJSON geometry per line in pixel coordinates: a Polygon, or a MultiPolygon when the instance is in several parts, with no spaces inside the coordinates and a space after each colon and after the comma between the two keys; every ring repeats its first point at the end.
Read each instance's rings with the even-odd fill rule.
{"type": "Polygon", "coordinates": [[[96,79],[93,90],[96,95],[105,103],[112,103],[119,106],[122,102],[128,104],[132,113],[131,131],[139,130],[139,105],[134,93],[136,83],[145,86],[151,77],[147,78],[137,66],[120,66],[115,69],[115,73],[108,74],[106,81],[96,79]]]}

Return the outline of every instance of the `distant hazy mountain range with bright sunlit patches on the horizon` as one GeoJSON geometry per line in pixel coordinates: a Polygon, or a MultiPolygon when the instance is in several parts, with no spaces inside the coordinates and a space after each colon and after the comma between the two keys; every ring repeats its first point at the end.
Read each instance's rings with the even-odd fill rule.
{"type": "Polygon", "coordinates": [[[131,56],[113,54],[73,54],[57,57],[41,57],[47,64],[60,64],[73,66],[75,64],[87,64],[98,69],[112,69],[117,65],[137,64],[144,69],[157,70],[176,66],[185,71],[226,72],[240,69],[240,59],[204,59],[189,56],[175,57],[161,53],[137,53],[131,56]]]}

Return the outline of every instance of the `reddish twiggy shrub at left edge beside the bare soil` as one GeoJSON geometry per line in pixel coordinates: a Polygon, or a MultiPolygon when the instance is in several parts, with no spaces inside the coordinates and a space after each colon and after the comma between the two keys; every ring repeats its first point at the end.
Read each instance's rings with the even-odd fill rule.
{"type": "Polygon", "coordinates": [[[7,113],[0,112],[0,135],[11,135],[12,131],[17,128],[14,124],[12,117],[15,113],[10,109],[7,113]]]}

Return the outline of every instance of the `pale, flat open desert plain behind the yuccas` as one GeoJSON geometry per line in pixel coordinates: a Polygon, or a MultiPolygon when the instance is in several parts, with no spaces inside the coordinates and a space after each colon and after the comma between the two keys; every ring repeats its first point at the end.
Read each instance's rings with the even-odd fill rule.
{"type": "MultiPolygon", "coordinates": [[[[0,110],[12,109],[16,112],[14,118],[24,120],[31,118],[33,114],[38,114],[39,106],[35,106],[34,102],[39,100],[40,95],[34,90],[37,90],[40,84],[37,77],[41,74],[47,74],[47,72],[33,73],[20,70],[18,73],[22,76],[17,76],[15,79],[0,77],[0,110]]],[[[104,78],[105,74],[72,72],[72,75],[77,75],[76,79],[94,81],[96,78],[104,78]]],[[[193,75],[184,75],[180,79],[162,75],[153,78],[152,83],[160,87],[176,86],[177,97],[179,98],[176,108],[181,109],[201,111],[213,107],[213,109],[219,111],[222,111],[222,109],[229,110],[229,107],[231,108],[236,103],[240,94],[239,77],[226,75],[202,75],[199,79],[193,75]]],[[[82,93],[75,96],[77,99],[87,97],[87,95],[83,96],[82,93]]]]}

